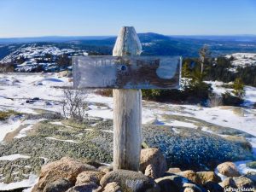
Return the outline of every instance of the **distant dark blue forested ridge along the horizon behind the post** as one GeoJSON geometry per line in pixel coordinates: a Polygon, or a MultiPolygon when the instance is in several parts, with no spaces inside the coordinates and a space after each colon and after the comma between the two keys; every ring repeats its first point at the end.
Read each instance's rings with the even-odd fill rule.
{"type": "MultiPolygon", "coordinates": [[[[165,36],[153,32],[139,33],[143,55],[183,55],[197,57],[198,49],[205,44],[213,56],[237,52],[256,53],[255,36],[165,36]]],[[[112,55],[116,37],[49,37],[49,38],[0,38],[0,59],[9,54],[10,46],[50,44],[61,49],[85,49],[91,55],[112,55]],[[1,45],[2,44],[2,45],[1,45]]]]}

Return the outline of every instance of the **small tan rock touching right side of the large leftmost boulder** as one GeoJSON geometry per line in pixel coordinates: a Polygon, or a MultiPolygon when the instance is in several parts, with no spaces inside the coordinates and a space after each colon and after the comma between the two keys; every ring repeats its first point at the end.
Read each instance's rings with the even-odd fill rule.
{"type": "Polygon", "coordinates": [[[76,185],[79,185],[81,183],[90,183],[90,182],[100,184],[100,181],[104,175],[105,173],[103,172],[94,172],[94,171],[80,172],[77,177],[76,185]]]}

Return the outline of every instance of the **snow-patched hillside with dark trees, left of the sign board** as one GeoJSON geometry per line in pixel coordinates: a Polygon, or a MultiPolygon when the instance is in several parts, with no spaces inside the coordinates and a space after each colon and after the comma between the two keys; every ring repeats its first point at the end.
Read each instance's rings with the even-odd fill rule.
{"type": "Polygon", "coordinates": [[[71,65],[73,55],[87,55],[87,53],[80,49],[60,49],[53,45],[25,44],[5,56],[0,63],[13,64],[15,72],[54,72],[60,70],[60,66],[56,63],[58,60],[62,59],[62,67],[67,67],[71,65]]]}

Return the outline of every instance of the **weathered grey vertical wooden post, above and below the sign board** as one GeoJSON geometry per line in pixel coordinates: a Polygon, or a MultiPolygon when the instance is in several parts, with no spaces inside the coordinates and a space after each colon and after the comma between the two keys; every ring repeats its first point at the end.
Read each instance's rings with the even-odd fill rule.
{"type": "MultiPolygon", "coordinates": [[[[142,45],[132,26],[124,26],[113,56],[140,55],[142,45]]],[[[139,171],[142,145],[141,90],[113,90],[113,170],[139,171]]]]}

